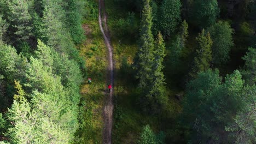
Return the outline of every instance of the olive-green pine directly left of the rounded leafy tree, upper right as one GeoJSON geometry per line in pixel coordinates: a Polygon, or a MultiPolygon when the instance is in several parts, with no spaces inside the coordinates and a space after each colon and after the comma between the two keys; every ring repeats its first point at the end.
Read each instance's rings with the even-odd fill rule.
{"type": "Polygon", "coordinates": [[[212,61],[212,39],[210,33],[206,33],[205,29],[203,29],[196,40],[198,49],[196,50],[192,71],[189,74],[191,77],[196,77],[197,73],[209,69],[212,61]]]}

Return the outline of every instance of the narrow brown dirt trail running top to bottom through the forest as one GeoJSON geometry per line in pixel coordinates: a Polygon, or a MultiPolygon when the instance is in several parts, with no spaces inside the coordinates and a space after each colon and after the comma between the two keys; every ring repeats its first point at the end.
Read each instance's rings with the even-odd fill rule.
{"type": "MultiPolygon", "coordinates": [[[[108,71],[109,82],[114,87],[114,64],[113,64],[113,47],[110,44],[109,31],[107,26],[107,14],[104,7],[104,0],[98,0],[98,23],[100,25],[101,32],[104,37],[105,44],[108,48],[108,71]],[[101,10],[103,12],[103,19],[101,17],[101,10]],[[104,30],[102,27],[102,21],[104,21],[104,30]]],[[[112,121],[113,121],[113,88],[109,94],[106,94],[106,103],[104,105],[104,129],[103,129],[103,143],[112,143],[112,121]]]]}

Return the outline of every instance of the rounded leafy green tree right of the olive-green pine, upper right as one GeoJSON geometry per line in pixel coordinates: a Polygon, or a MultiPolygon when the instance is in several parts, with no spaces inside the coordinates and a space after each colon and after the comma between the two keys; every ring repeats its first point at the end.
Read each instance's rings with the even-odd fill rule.
{"type": "Polygon", "coordinates": [[[232,34],[234,30],[228,22],[219,21],[207,29],[210,32],[212,44],[212,57],[214,64],[223,64],[229,60],[229,52],[234,46],[232,34]]]}

